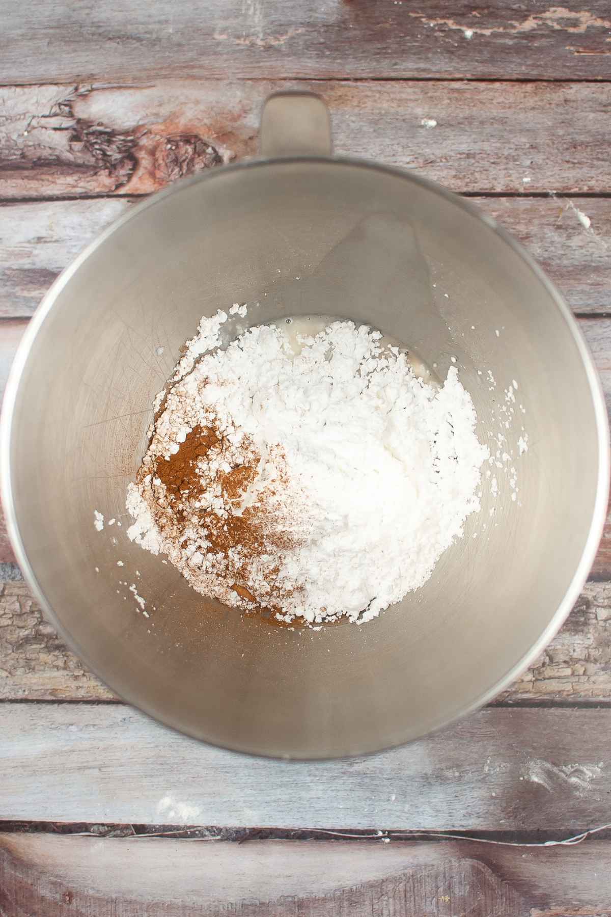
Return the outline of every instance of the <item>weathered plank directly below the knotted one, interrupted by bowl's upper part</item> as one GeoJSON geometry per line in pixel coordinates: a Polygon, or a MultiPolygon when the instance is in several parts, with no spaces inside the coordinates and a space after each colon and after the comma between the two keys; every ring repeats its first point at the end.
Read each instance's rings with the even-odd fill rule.
{"type": "MultiPolygon", "coordinates": [[[[31,315],[50,283],[134,198],[0,206],[0,316],[31,315]]],[[[475,198],[528,246],[580,313],[611,312],[611,199],[475,198]]],[[[0,343],[0,346],[2,344],[0,343]]]]}

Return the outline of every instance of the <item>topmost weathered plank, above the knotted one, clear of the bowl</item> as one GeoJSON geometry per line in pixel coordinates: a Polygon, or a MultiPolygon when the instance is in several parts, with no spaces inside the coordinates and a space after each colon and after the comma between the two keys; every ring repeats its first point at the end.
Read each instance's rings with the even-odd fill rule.
{"type": "Polygon", "coordinates": [[[246,77],[608,78],[606,0],[158,0],[1,9],[0,82],[246,77]]]}

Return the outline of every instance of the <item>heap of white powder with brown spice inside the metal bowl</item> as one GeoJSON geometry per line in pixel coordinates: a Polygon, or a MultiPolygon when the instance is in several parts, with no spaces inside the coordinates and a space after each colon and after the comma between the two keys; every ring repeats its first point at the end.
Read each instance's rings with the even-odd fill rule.
{"type": "Polygon", "coordinates": [[[471,397],[455,367],[433,387],[367,326],[333,322],[297,348],[255,326],[222,349],[226,320],[202,318],[158,394],[127,534],[226,604],[368,621],[479,511],[471,397]]]}

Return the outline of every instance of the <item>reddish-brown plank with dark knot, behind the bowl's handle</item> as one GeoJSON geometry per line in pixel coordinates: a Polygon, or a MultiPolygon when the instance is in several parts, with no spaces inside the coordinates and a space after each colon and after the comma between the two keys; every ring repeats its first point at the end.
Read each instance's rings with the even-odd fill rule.
{"type": "MultiPolygon", "coordinates": [[[[458,192],[611,191],[605,83],[302,84],[329,105],[338,153],[419,169],[458,192]]],[[[5,86],[0,195],[148,193],[250,156],[263,100],[291,85],[5,86]]]]}

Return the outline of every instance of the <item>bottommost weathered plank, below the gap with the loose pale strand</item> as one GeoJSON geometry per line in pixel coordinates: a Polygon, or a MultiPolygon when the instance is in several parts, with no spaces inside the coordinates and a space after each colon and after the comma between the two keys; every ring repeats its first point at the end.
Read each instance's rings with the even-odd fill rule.
{"type": "Polygon", "coordinates": [[[605,917],[611,844],[191,844],[0,834],[11,917],[605,917]]]}

